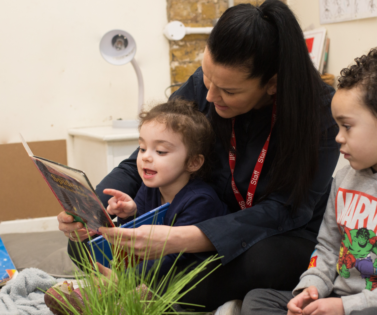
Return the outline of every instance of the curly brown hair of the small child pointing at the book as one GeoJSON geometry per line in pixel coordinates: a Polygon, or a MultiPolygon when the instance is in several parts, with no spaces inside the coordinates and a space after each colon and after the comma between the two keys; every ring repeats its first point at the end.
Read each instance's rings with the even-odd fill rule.
{"type": "Polygon", "coordinates": [[[181,134],[182,141],[187,148],[185,167],[188,167],[199,154],[204,156],[202,167],[191,173],[191,177],[208,179],[214,133],[208,119],[199,112],[196,102],[172,98],[166,103],[152,107],[152,109],[143,109],[139,114],[139,131],[144,123],[151,121],[164,124],[166,128],[181,134]]]}

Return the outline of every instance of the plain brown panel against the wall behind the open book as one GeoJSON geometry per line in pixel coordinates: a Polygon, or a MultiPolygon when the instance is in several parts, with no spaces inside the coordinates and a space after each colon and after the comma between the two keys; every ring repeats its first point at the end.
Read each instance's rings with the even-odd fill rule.
{"type": "MultiPolygon", "coordinates": [[[[28,142],[34,155],[67,165],[65,140],[28,142]]],[[[56,216],[60,203],[21,143],[0,145],[0,220],[56,216]]]]}

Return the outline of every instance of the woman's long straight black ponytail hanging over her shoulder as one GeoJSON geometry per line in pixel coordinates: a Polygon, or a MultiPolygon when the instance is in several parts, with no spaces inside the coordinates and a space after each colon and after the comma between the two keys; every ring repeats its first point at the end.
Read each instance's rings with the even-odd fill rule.
{"type": "Polygon", "coordinates": [[[318,167],[323,83],[308,54],[296,17],[279,0],[260,6],[278,31],[277,156],[271,168],[271,193],[292,187],[291,199],[298,206],[306,197],[318,167]],[[273,174],[285,173],[284,176],[273,174]],[[293,184],[293,185],[292,185],[293,184]],[[289,185],[289,186],[288,186],[289,185]]]}

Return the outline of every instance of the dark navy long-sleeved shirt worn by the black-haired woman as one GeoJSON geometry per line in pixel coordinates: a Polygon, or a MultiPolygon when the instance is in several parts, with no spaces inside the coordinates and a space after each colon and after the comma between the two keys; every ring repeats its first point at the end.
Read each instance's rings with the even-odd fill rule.
{"type": "MultiPolygon", "coordinates": [[[[208,113],[210,103],[207,101],[207,88],[203,82],[203,72],[199,67],[189,80],[183,84],[173,96],[182,96],[198,102],[199,110],[208,113]]],[[[323,84],[322,103],[331,117],[331,99],[335,91],[323,84]]],[[[234,180],[237,188],[245,199],[251,174],[256,165],[259,153],[270,133],[272,106],[252,109],[250,112],[237,116],[234,133],[237,139],[237,160],[234,169],[234,180]]],[[[308,193],[307,202],[303,202],[294,214],[287,205],[289,196],[285,193],[271,193],[267,199],[254,204],[251,208],[240,210],[231,187],[231,172],[228,152],[220,140],[216,138],[211,186],[231,211],[227,216],[215,217],[196,223],[215,246],[222,263],[225,265],[242,254],[256,242],[276,234],[288,234],[303,237],[316,242],[323,213],[325,212],[332,174],[339,158],[339,145],[335,141],[337,133],[335,121],[328,121],[326,132],[320,139],[319,167],[308,193]]],[[[320,123],[320,122],[319,122],[320,123]]],[[[323,130],[325,131],[325,130],[323,130]]],[[[276,154],[276,128],[271,133],[265,162],[254,194],[254,200],[263,194],[268,184],[268,171],[276,154]]],[[[102,193],[104,188],[124,191],[135,197],[141,186],[141,178],[136,167],[136,150],[129,159],[114,168],[97,186],[101,201],[107,204],[110,196],[102,193]]]]}

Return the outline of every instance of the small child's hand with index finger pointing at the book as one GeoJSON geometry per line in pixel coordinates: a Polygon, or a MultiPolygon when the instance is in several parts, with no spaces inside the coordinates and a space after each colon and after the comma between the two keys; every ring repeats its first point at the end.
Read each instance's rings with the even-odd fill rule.
{"type": "Polygon", "coordinates": [[[109,214],[116,214],[120,218],[127,218],[136,213],[136,203],[129,195],[115,189],[104,189],[103,193],[113,196],[108,201],[107,212],[109,214]]]}

